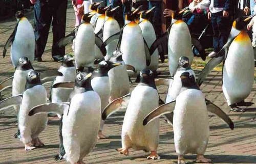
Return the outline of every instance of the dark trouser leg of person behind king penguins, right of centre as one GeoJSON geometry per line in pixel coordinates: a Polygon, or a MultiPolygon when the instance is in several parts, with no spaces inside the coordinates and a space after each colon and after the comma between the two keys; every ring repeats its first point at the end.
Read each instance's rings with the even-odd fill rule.
{"type": "Polygon", "coordinates": [[[162,24],[162,22],[161,22],[162,2],[161,1],[148,1],[148,9],[151,9],[154,6],[156,8],[154,9],[154,16],[152,18],[152,24],[154,26],[156,35],[158,37],[159,35],[161,35],[161,31],[162,31],[162,28],[161,28],[161,24],[162,24]]]}

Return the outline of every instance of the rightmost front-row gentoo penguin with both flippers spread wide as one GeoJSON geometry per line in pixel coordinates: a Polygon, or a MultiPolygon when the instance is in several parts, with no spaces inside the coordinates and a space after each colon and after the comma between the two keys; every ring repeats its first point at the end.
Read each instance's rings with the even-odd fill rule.
{"type": "Polygon", "coordinates": [[[174,111],[174,144],[178,153],[178,163],[186,163],[183,155],[187,153],[197,154],[196,162],[209,163],[211,160],[204,157],[209,139],[207,110],[217,114],[231,129],[234,127],[233,122],[218,106],[209,101],[206,106],[204,94],[197,86],[193,74],[183,72],[180,78],[182,91],[176,100],[157,107],[144,118],[143,125],[174,111]]]}

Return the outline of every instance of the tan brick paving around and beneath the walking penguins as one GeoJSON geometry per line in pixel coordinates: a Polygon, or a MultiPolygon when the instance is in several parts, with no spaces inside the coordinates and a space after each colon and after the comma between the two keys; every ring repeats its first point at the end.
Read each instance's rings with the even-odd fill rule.
{"type": "MultiPolygon", "coordinates": [[[[69,6],[67,11],[67,34],[74,26],[74,11],[69,6]]],[[[33,21],[32,13],[27,13],[29,19],[33,21]]],[[[15,26],[15,18],[0,22],[0,52],[3,51],[4,44],[15,26]]],[[[60,63],[52,62],[50,49],[52,44],[52,34],[43,56],[45,62],[35,63],[35,69],[57,69],[60,63]]],[[[66,52],[71,52],[70,46],[66,52]]],[[[8,56],[3,59],[0,57],[0,81],[13,75],[14,68],[10,63],[9,50],[8,56]]],[[[159,70],[161,76],[168,75],[166,64],[160,64],[159,70]]],[[[197,73],[199,71],[196,71],[197,73]]],[[[49,86],[48,86],[49,87],[49,86]]],[[[135,84],[131,85],[132,88],[135,84]]],[[[255,88],[246,101],[256,102],[255,88]]],[[[211,72],[207,80],[201,87],[206,97],[219,105],[226,113],[229,107],[224,100],[221,88],[221,72],[211,72]]],[[[49,90],[49,88],[48,88],[49,90]]],[[[160,96],[164,99],[167,88],[158,88],[160,96]]],[[[10,90],[4,92],[4,98],[11,96],[10,90]]],[[[158,153],[160,160],[147,160],[145,157],[148,153],[143,151],[132,151],[129,156],[124,156],[115,151],[121,147],[121,125],[124,111],[117,112],[108,120],[104,126],[104,133],[110,135],[111,139],[99,140],[93,152],[84,158],[86,163],[175,163],[177,154],[174,148],[174,135],[172,126],[160,120],[160,143],[158,153]]],[[[210,115],[212,116],[212,115],[210,115]]],[[[234,121],[235,128],[230,130],[219,118],[210,117],[210,138],[206,150],[206,157],[211,158],[214,163],[256,163],[256,108],[255,105],[247,108],[245,113],[229,113],[234,121]]],[[[40,134],[45,147],[25,152],[24,145],[13,138],[17,127],[16,117],[13,110],[2,111],[0,113],[0,163],[56,163],[53,156],[58,152],[58,119],[49,118],[47,128],[40,134]]],[[[196,158],[195,155],[187,155],[185,158],[191,163],[196,158]]],[[[61,161],[59,163],[66,163],[61,161]]]]}

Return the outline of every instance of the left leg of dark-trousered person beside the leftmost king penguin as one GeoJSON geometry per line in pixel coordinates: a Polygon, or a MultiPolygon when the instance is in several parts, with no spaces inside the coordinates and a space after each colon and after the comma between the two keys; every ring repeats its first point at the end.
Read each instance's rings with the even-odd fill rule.
{"type": "Polygon", "coordinates": [[[35,61],[41,61],[48,39],[51,20],[52,15],[48,4],[37,1],[34,4],[35,40],[37,46],[35,61]]]}

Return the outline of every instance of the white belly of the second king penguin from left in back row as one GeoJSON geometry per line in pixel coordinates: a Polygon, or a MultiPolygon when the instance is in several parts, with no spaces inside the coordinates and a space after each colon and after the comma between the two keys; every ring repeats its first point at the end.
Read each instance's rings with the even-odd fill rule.
{"type": "Polygon", "coordinates": [[[75,39],[75,63],[76,67],[92,67],[94,64],[95,35],[90,23],[83,23],[79,26],[75,39]]]}

